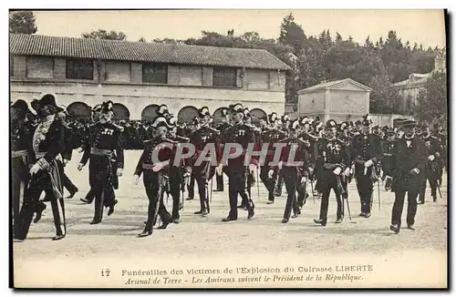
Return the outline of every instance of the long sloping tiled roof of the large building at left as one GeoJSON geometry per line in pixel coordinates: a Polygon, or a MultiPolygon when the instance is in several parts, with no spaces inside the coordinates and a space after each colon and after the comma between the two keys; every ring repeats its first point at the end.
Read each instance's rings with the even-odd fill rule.
{"type": "Polygon", "coordinates": [[[290,70],[265,49],[10,34],[11,54],[290,70]]]}

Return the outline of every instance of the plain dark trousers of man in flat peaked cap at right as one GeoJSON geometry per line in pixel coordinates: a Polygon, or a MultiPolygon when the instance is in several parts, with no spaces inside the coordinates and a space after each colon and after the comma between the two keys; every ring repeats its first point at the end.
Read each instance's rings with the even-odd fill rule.
{"type": "MultiPolygon", "coordinates": [[[[393,204],[393,211],[391,216],[391,224],[398,225],[400,228],[402,210],[404,208],[405,200],[405,189],[395,190],[395,200],[393,204]]],[[[413,225],[415,223],[415,215],[417,214],[417,196],[418,189],[416,191],[409,191],[407,195],[407,224],[413,225]]]]}

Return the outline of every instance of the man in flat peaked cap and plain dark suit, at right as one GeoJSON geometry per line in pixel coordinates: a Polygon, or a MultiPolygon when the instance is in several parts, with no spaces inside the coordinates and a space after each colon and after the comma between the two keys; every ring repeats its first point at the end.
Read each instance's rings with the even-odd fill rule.
{"type": "Polygon", "coordinates": [[[403,137],[399,138],[393,150],[393,188],[395,200],[391,214],[390,230],[399,233],[405,194],[408,193],[407,228],[414,230],[417,213],[417,197],[420,192],[420,175],[426,167],[426,151],[420,138],[415,137],[417,123],[404,120],[400,124],[403,137]]]}

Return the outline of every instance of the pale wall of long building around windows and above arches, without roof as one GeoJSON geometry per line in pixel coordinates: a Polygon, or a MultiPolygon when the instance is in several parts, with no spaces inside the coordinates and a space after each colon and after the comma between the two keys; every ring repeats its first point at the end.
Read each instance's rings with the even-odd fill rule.
{"type": "Polygon", "coordinates": [[[189,105],[206,105],[211,112],[239,102],[267,113],[282,114],[285,108],[285,72],[276,70],[239,69],[237,87],[212,87],[212,67],[169,65],[168,84],[151,85],[142,83],[140,63],[101,62],[100,79],[94,63],[94,79],[78,81],[66,79],[65,59],[53,60],[53,69],[45,67],[50,75],[42,76],[53,78],[30,78],[26,77],[26,56],[13,56],[11,96],[32,98],[52,92],[61,104],[78,101],[91,107],[110,99],[129,108],[132,119],[140,119],[142,110],[151,104],[167,104],[175,115],[189,105]]]}

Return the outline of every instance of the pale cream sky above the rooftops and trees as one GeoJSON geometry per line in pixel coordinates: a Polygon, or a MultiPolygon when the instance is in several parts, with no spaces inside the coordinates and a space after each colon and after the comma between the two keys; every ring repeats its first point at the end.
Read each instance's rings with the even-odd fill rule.
{"type": "Polygon", "coordinates": [[[234,35],[256,31],[264,38],[277,38],[285,15],[293,13],[306,36],[329,29],[344,39],[349,35],[363,44],[368,36],[377,41],[389,30],[410,44],[425,48],[445,46],[442,10],[159,10],[159,11],[36,11],[36,34],[79,37],[84,32],[103,28],[122,31],[128,40],[145,37],[198,38],[202,30],[234,35]]]}

